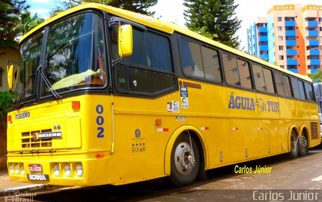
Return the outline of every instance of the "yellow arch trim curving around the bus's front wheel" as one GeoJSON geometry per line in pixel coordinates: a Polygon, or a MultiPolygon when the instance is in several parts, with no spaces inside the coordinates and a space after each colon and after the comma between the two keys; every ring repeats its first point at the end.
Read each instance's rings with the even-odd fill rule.
{"type": "Polygon", "coordinates": [[[167,147],[166,147],[166,153],[165,153],[165,174],[170,175],[171,174],[171,151],[174,146],[174,143],[176,139],[180,136],[181,133],[184,131],[189,130],[190,134],[192,136],[196,136],[197,139],[195,141],[197,142],[197,145],[200,146],[201,148],[199,149],[200,156],[203,156],[203,159],[200,159],[200,162],[205,163],[205,167],[203,169],[207,169],[209,167],[209,155],[208,155],[208,149],[207,149],[207,144],[206,141],[202,135],[202,133],[194,126],[192,125],[183,125],[179,128],[177,128],[171,135],[167,147]],[[192,134],[193,133],[193,134],[192,134]]]}

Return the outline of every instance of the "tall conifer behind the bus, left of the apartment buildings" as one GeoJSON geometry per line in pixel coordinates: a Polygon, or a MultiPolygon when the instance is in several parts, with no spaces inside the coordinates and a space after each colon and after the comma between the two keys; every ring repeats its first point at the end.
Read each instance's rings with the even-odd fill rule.
{"type": "Polygon", "coordinates": [[[192,31],[204,28],[213,35],[212,39],[233,48],[238,48],[240,40],[234,36],[240,28],[241,20],[235,15],[234,0],[184,0],[186,26],[192,31]]]}

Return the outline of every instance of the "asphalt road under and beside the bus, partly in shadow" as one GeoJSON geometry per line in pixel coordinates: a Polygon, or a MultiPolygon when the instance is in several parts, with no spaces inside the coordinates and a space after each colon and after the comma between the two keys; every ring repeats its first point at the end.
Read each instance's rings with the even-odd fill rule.
{"type": "Polygon", "coordinates": [[[207,177],[182,188],[171,187],[164,179],[122,186],[49,187],[46,192],[30,191],[14,201],[322,201],[322,147],[297,159],[279,155],[212,169],[207,177]],[[255,173],[256,167],[267,172],[255,173]]]}

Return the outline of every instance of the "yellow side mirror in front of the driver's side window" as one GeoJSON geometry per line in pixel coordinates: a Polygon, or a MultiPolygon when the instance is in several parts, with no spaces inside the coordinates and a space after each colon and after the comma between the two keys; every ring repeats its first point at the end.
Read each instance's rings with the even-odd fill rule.
{"type": "Polygon", "coordinates": [[[119,27],[119,55],[121,57],[132,54],[133,41],[132,41],[132,26],[122,25],[119,27]]]}

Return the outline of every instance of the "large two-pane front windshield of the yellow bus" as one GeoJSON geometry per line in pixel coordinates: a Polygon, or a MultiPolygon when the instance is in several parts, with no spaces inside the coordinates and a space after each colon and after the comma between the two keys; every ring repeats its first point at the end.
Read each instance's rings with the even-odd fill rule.
{"type": "MultiPolygon", "coordinates": [[[[90,12],[76,15],[49,26],[48,30],[44,65],[39,71],[42,75],[38,77],[37,72],[37,77],[32,77],[24,98],[35,96],[37,91],[42,97],[51,95],[51,90],[64,93],[106,85],[103,20],[98,14],[90,12]],[[34,85],[43,88],[38,90],[34,85]]],[[[21,46],[24,60],[24,81],[21,83],[25,85],[29,75],[34,74],[40,65],[43,35],[44,31],[32,36],[21,46]]]]}

